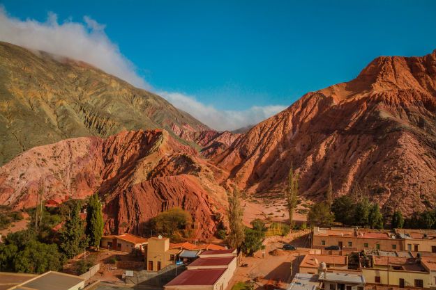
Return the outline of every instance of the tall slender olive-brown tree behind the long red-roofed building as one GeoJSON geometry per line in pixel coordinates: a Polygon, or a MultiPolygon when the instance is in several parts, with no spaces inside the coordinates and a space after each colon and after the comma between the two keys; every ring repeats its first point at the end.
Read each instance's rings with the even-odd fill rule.
{"type": "Polygon", "coordinates": [[[231,248],[239,248],[245,238],[242,224],[243,208],[241,207],[241,193],[234,188],[233,193],[229,195],[228,199],[229,208],[227,209],[227,215],[230,233],[227,236],[227,242],[231,248]]]}

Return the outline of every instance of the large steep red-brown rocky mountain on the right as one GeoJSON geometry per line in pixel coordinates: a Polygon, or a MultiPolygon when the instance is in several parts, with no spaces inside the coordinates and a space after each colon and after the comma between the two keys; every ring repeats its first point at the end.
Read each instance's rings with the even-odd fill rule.
{"type": "Polygon", "coordinates": [[[213,162],[250,193],[277,195],[293,163],[301,193],[366,188],[384,209],[436,202],[436,51],[379,57],[353,81],[304,95],[239,136],[213,162]]]}

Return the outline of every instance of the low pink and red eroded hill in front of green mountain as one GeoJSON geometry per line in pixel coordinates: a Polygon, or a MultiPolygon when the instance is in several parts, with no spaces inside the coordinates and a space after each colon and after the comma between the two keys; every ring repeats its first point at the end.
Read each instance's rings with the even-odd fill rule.
{"type": "Polygon", "coordinates": [[[107,232],[144,234],[150,218],[182,207],[200,223],[198,234],[210,237],[227,203],[212,170],[165,130],[73,138],[35,147],[1,167],[0,204],[34,207],[41,184],[43,200],[98,191],[107,232]]]}

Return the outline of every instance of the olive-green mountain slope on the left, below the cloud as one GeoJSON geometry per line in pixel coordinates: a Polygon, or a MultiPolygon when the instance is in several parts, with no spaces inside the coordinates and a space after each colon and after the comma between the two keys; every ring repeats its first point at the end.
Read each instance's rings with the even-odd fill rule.
{"type": "Polygon", "coordinates": [[[179,134],[209,129],[158,95],[96,67],[0,42],[0,166],[66,138],[172,127],[179,134]]]}

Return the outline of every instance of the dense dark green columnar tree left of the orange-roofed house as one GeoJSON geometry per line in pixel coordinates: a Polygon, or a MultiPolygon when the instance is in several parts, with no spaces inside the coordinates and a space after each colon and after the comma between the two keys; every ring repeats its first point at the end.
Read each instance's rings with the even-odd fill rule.
{"type": "Polygon", "coordinates": [[[100,246],[100,239],[103,236],[103,213],[98,193],[94,193],[89,198],[87,206],[87,227],[85,233],[89,239],[89,245],[93,247],[100,246]]]}

